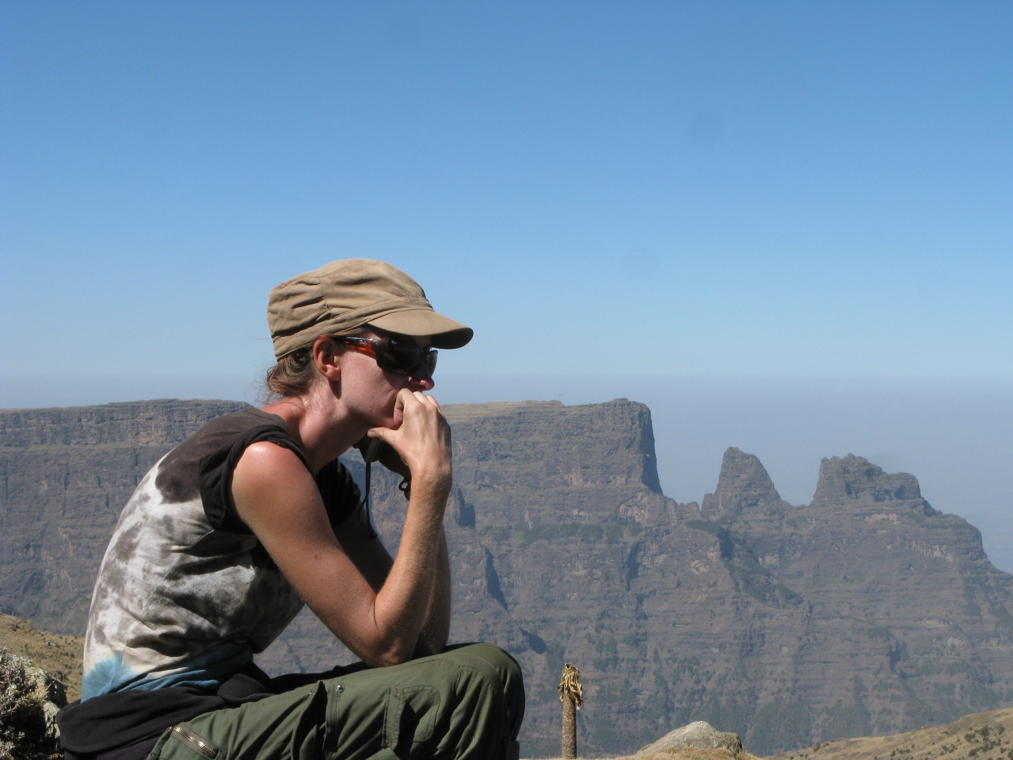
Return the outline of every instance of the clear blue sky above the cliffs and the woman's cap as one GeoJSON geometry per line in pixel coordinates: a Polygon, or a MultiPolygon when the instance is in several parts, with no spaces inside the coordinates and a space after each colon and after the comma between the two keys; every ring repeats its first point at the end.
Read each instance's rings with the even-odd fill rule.
{"type": "Polygon", "coordinates": [[[683,501],[725,446],[796,503],[855,447],[998,547],[1011,39],[1008,2],[4,2],[0,406],[252,399],[267,290],[383,258],[476,329],[442,399],[647,401],[683,501]]]}

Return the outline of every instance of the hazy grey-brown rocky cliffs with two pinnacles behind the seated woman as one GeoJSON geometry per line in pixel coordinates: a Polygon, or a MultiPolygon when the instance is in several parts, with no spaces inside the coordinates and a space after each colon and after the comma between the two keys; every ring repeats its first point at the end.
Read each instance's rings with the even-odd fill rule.
{"type": "MultiPolygon", "coordinates": [[[[187,424],[216,411],[175,403],[190,404],[187,424]]],[[[795,507],[756,457],[729,449],[701,511],[660,493],[642,404],[446,412],[452,635],[495,641],[523,665],[524,754],[558,749],[564,660],[581,671],[589,755],[633,751],[696,719],[767,754],[1013,702],[1013,577],[991,565],[975,528],[933,510],[912,475],[851,455],[825,459],[812,504],[795,507]]],[[[46,437],[76,430],[52,422],[74,410],[0,417],[13,413],[35,423],[0,422],[20,429],[4,434],[0,454],[0,610],[77,632],[116,513],[168,446],[156,434],[144,446],[57,444],[86,440],[46,437]]],[[[123,435],[148,430],[122,422],[123,435]]],[[[349,465],[361,475],[361,462],[349,465]]],[[[394,478],[374,474],[378,529],[393,550],[405,503],[394,478]]],[[[260,662],[313,671],[348,659],[303,614],[260,662]]]]}

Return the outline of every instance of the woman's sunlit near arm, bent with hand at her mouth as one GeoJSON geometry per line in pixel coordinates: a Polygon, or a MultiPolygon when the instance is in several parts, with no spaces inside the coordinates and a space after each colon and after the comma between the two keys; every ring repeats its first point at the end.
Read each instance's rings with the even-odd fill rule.
{"type": "MultiPolygon", "coordinates": [[[[450,428],[435,400],[403,390],[403,423],[380,431],[411,470],[411,499],[397,558],[377,591],[327,522],[316,483],[295,453],[270,443],[246,449],[232,478],[239,517],[256,534],[295,590],[356,655],[374,666],[410,659],[431,614],[434,586],[449,574],[443,516],[451,487],[450,428]]],[[[386,553],[386,552],[384,552],[386,553]]],[[[379,571],[379,568],[378,568],[379,571]]],[[[372,575],[372,574],[370,574],[372,575]]],[[[449,583],[447,607],[449,613],[449,583]]],[[[444,605],[443,594],[436,595],[444,605]]],[[[449,623],[449,614],[446,615],[449,623]]],[[[432,638],[437,643],[439,633],[432,638]]],[[[444,642],[446,638],[444,638],[444,642]]]]}

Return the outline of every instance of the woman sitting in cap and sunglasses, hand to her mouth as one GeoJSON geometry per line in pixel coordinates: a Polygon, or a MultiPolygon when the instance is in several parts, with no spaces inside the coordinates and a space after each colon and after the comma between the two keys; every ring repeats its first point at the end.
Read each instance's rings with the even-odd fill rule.
{"type": "Polygon", "coordinates": [[[368,259],[282,283],[267,321],[276,400],[190,436],[120,516],[59,714],[68,759],[516,758],[517,663],[447,647],[451,431],[425,391],[471,329],[368,259]],[[337,461],[353,446],[404,479],[395,559],[337,461]],[[268,678],[253,656],[304,602],[363,662],[268,678]]]}

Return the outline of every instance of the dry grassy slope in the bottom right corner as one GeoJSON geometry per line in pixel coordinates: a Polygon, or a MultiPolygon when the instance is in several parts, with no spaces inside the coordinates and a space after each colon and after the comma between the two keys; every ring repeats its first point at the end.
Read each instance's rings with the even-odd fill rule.
{"type": "Polygon", "coordinates": [[[766,760],[1013,760],[1013,709],[891,737],[829,742],[766,760]]]}

